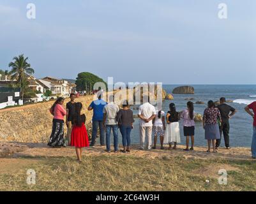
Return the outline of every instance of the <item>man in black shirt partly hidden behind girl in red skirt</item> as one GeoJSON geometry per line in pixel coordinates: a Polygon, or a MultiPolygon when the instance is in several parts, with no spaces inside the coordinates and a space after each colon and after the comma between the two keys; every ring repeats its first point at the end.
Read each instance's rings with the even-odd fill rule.
{"type": "Polygon", "coordinates": [[[66,126],[68,127],[66,137],[68,138],[68,145],[71,143],[72,117],[75,115],[75,98],[75,94],[70,94],[70,102],[66,104],[66,126]]]}

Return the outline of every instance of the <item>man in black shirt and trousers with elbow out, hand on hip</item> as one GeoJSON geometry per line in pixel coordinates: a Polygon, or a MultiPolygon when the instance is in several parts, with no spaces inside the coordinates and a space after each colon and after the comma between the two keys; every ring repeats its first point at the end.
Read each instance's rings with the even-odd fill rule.
{"type": "Polygon", "coordinates": [[[220,126],[220,139],[216,141],[216,149],[220,146],[220,142],[222,140],[222,133],[225,140],[225,147],[230,149],[229,147],[229,119],[232,117],[237,110],[226,103],[226,99],[224,97],[220,98],[220,105],[217,108],[220,110],[220,114],[222,115],[222,126],[220,126]],[[231,113],[230,113],[231,112],[231,113]]]}

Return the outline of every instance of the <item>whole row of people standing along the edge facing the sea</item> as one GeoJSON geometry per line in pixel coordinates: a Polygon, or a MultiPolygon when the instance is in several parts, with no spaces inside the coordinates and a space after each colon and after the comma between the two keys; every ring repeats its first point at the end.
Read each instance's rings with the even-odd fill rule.
{"type": "MultiPolygon", "coordinates": [[[[93,147],[96,143],[97,132],[100,129],[100,145],[106,147],[106,152],[110,152],[110,135],[114,136],[114,152],[119,152],[118,133],[122,135],[123,149],[121,152],[131,150],[131,132],[133,129],[133,111],[130,109],[128,101],[124,101],[121,108],[116,105],[114,96],[109,97],[109,103],[98,95],[98,99],[91,102],[87,110],[93,110],[93,131],[91,143],[89,143],[86,130],[86,115],[81,113],[82,103],[75,102],[75,94],[70,95],[70,101],[64,108],[64,98],[58,98],[50,108],[50,113],[54,115],[52,122],[52,134],[48,145],[50,147],[74,146],[78,161],[82,161],[82,148],[93,147]],[[67,135],[64,137],[64,117],[66,117],[67,135]]],[[[145,101],[145,99],[144,99],[145,101]]],[[[245,108],[246,112],[252,115],[253,139],[252,157],[256,159],[256,101],[245,108]],[[251,112],[253,110],[253,112],[251,112]]],[[[203,128],[205,129],[205,139],[207,140],[207,152],[217,152],[220,147],[221,138],[225,140],[226,149],[230,149],[229,143],[229,119],[237,112],[235,108],[225,103],[225,98],[220,98],[220,105],[216,106],[213,101],[208,101],[204,110],[203,128]]],[[[163,110],[157,110],[147,97],[146,103],[139,106],[139,131],[140,150],[156,149],[156,143],[160,138],[160,149],[164,149],[163,144],[169,144],[168,149],[177,149],[177,144],[181,143],[179,120],[183,120],[183,133],[186,137],[186,148],[184,151],[194,150],[195,143],[195,112],[193,102],[188,101],[187,107],[177,112],[176,105],[170,103],[169,111],[165,114],[163,110]],[[152,135],[153,145],[152,145],[152,135]],[[191,140],[191,146],[190,145],[191,140]],[[173,147],[172,147],[173,145],[173,147]]]]}

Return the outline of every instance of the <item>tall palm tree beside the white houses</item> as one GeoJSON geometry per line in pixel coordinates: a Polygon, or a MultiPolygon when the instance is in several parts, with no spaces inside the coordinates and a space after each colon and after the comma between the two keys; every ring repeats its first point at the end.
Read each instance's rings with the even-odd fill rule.
{"type": "Polygon", "coordinates": [[[34,69],[31,68],[31,65],[27,63],[28,57],[24,58],[24,55],[19,55],[19,57],[13,57],[13,62],[9,63],[11,68],[10,75],[12,79],[17,80],[20,92],[22,93],[22,100],[24,96],[24,89],[27,85],[26,75],[32,75],[34,69]]]}

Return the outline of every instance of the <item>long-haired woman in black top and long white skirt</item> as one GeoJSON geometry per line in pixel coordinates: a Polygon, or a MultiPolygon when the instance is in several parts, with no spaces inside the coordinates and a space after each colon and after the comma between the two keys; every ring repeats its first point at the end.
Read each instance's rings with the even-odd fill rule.
{"type": "Polygon", "coordinates": [[[169,105],[170,111],[167,112],[166,120],[167,125],[165,128],[165,137],[163,143],[169,143],[169,149],[172,149],[172,142],[174,142],[173,149],[177,149],[177,143],[181,142],[181,136],[179,134],[179,113],[176,112],[176,106],[174,103],[169,105]]]}

